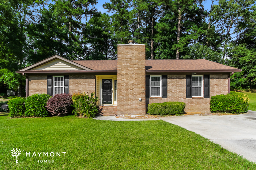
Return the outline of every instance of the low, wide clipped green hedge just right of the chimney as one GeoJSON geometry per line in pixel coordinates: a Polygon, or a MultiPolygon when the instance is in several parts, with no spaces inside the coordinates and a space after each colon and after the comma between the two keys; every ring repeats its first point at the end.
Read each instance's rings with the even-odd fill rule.
{"type": "Polygon", "coordinates": [[[148,114],[151,115],[175,115],[182,114],[186,103],[183,102],[164,102],[148,104],[148,114]]]}

